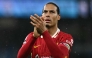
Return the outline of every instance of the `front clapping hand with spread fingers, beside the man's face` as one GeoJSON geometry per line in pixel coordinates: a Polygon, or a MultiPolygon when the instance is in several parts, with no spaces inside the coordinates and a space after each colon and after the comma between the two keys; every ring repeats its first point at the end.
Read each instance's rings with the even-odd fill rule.
{"type": "Polygon", "coordinates": [[[38,33],[42,34],[44,31],[47,30],[42,17],[35,14],[34,16],[31,15],[30,19],[32,20],[30,23],[37,28],[38,33]]]}

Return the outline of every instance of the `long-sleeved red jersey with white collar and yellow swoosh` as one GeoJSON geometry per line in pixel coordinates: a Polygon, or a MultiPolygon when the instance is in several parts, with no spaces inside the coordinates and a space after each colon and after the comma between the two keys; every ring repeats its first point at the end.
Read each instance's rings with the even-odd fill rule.
{"type": "Polygon", "coordinates": [[[70,34],[59,29],[53,36],[45,31],[38,38],[33,37],[33,33],[27,35],[17,58],[68,58],[73,45],[73,38],[70,34]]]}

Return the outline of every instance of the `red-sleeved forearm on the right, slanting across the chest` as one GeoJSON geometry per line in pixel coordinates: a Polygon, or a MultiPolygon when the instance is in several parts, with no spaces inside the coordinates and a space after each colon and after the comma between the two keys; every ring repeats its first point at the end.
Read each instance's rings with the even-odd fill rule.
{"type": "Polygon", "coordinates": [[[48,49],[51,53],[51,55],[54,58],[63,58],[65,52],[68,52],[68,50],[66,49],[66,47],[64,47],[63,45],[61,47],[59,47],[51,38],[51,36],[49,35],[48,31],[45,31],[43,33],[43,38],[48,46],[48,49]]]}

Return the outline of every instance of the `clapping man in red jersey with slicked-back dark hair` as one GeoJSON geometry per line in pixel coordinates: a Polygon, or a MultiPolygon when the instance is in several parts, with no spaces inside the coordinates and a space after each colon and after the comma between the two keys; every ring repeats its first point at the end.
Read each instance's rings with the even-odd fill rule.
{"type": "Polygon", "coordinates": [[[42,16],[30,16],[34,31],[29,33],[20,48],[17,58],[68,58],[73,39],[70,34],[60,31],[59,7],[47,3],[43,8],[42,16]]]}

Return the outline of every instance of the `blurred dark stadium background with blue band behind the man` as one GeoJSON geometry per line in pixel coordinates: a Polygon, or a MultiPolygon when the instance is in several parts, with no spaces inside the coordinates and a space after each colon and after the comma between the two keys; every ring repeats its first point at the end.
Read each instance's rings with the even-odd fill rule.
{"type": "Polygon", "coordinates": [[[92,58],[92,0],[0,0],[0,58],[16,58],[33,31],[30,15],[41,16],[50,1],[61,9],[59,28],[74,38],[70,58],[92,58]]]}

